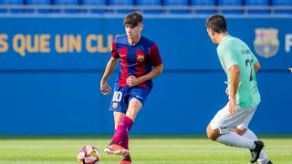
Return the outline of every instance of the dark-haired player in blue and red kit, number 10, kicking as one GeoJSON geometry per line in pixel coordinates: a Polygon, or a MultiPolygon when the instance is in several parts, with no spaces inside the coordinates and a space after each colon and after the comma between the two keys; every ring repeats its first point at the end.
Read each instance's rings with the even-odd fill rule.
{"type": "Polygon", "coordinates": [[[111,57],[100,80],[103,95],[110,94],[107,80],[120,60],[120,72],[113,89],[110,111],[113,111],[115,133],[110,145],[104,149],[108,154],[120,155],[120,164],[130,164],[128,131],[151,92],[153,77],[162,73],[162,58],[157,45],[141,36],[142,15],[132,12],[126,15],[126,35],[118,36],[112,43],[111,57]]]}

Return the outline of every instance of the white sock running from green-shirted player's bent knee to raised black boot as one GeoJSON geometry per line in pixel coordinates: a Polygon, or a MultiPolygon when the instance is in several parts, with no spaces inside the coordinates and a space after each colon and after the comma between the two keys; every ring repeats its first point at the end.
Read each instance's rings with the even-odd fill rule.
{"type": "Polygon", "coordinates": [[[246,149],[255,149],[255,141],[249,138],[244,138],[233,131],[224,133],[216,141],[223,143],[226,146],[246,148],[246,149]]]}

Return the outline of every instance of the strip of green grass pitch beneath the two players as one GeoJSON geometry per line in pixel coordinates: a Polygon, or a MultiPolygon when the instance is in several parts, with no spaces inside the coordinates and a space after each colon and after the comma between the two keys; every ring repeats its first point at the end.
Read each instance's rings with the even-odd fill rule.
{"type": "MultiPolygon", "coordinates": [[[[263,136],[266,154],[275,164],[292,163],[291,136],[263,136]]],[[[0,137],[0,164],[77,164],[77,151],[94,145],[100,164],[114,164],[120,157],[106,155],[110,137],[0,137]]],[[[134,164],[247,164],[247,149],[226,147],[204,136],[130,136],[134,164]]]]}

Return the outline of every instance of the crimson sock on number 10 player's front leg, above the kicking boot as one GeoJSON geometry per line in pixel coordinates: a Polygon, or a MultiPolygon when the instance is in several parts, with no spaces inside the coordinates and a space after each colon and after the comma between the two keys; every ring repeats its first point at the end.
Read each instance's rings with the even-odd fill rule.
{"type": "Polygon", "coordinates": [[[118,128],[115,132],[115,135],[111,139],[111,142],[120,143],[124,140],[124,138],[126,137],[128,138],[128,131],[130,130],[132,125],[133,125],[133,121],[127,116],[124,116],[123,118],[121,118],[118,128]]]}

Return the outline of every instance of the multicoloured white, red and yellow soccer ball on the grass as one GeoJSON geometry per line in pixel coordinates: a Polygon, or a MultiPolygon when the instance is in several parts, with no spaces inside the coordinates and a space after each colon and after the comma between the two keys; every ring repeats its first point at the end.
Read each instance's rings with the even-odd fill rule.
{"type": "Polygon", "coordinates": [[[82,146],[78,149],[77,159],[82,164],[98,164],[99,149],[94,146],[82,146]]]}

